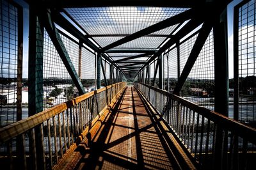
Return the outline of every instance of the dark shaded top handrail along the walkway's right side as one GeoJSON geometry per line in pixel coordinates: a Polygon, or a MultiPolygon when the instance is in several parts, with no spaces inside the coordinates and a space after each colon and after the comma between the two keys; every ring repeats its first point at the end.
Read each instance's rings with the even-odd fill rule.
{"type": "Polygon", "coordinates": [[[256,144],[256,129],[249,127],[248,125],[244,125],[243,123],[239,123],[236,120],[232,120],[228,118],[227,116],[223,116],[222,114],[218,112],[211,111],[205,107],[202,107],[200,105],[196,105],[193,102],[190,102],[189,100],[186,100],[182,97],[179,97],[177,95],[173,95],[172,93],[168,93],[167,91],[164,91],[162,89],[150,86],[148,84],[143,84],[141,82],[138,82],[142,84],[143,86],[146,86],[147,88],[153,89],[162,95],[165,95],[167,97],[172,98],[173,100],[179,102],[180,104],[186,105],[189,108],[193,109],[193,111],[198,112],[198,114],[201,114],[205,118],[214,121],[214,123],[217,123],[221,127],[234,131],[236,134],[240,135],[241,137],[245,137],[248,139],[248,141],[256,144]]]}

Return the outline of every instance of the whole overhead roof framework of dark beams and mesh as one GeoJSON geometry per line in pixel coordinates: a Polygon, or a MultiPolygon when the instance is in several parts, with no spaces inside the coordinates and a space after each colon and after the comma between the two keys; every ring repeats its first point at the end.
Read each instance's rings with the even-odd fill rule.
{"type": "Polygon", "coordinates": [[[56,24],[102,54],[109,63],[130,77],[206,19],[209,20],[211,13],[216,13],[216,10],[211,10],[214,9],[212,4],[217,6],[218,3],[125,0],[120,4],[115,0],[86,3],[44,0],[40,4],[51,8],[56,24]],[[129,68],[132,69],[132,73],[129,73],[131,70],[128,67],[134,66],[136,69],[129,68]]]}

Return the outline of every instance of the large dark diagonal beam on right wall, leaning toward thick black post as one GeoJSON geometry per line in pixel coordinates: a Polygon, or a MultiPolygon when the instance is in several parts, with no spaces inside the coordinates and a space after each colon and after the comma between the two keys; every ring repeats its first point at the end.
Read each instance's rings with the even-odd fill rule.
{"type": "Polygon", "coordinates": [[[191,50],[188,60],[186,62],[186,65],[184,66],[184,69],[180,75],[180,79],[177,82],[175,89],[173,91],[173,94],[175,95],[179,95],[179,92],[184,84],[184,82],[186,81],[189,72],[191,71],[202,47],[204,46],[205,40],[207,39],[210,31],[212,29],[212,25],[205,22],[202,26],[202,29],[200,31],[200,33],[198,34],[197,38],[196,38],[196,42],[193,46],[193,49],[191,50]]]}

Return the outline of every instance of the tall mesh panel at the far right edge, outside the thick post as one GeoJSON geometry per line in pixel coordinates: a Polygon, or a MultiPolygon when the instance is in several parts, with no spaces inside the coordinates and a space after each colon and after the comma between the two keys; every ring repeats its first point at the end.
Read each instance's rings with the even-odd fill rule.
{"type": "Polygon", "coordinates": [[[239,120],[256,121],[256,10],[255,0],[239,8],[238,65],[239,120]]]}

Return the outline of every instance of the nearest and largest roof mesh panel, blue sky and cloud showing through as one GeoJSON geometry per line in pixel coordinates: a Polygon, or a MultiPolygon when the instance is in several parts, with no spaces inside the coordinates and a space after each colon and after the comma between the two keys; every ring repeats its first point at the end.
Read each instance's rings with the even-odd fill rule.
{"type": "Polygon", "coordinates": [[[131,35],[187,9],[118,6],[65,10],[90,35],[131,35]]]}

